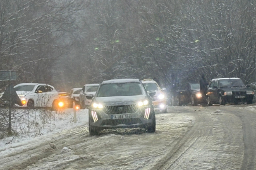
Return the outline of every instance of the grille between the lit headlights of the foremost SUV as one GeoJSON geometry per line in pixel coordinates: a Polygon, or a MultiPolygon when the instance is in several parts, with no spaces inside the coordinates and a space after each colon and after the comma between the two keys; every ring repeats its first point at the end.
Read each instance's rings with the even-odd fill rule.
{"type": "Polygon", "coordinates": [[[104,106],[103,111],[107,115],[135,113],[137,105],[104,106]]]}

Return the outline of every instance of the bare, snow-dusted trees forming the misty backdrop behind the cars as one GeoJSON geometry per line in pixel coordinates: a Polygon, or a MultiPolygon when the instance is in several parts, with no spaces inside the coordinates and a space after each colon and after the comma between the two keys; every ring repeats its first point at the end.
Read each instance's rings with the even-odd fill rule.
{"type": "Polygon", "coordinates": [[[114,78],[256,82],[255,1],[0,1],[0,68],[68,91],[114,78]],[[61,2],[61,3],[60,3],[61,2]]]}

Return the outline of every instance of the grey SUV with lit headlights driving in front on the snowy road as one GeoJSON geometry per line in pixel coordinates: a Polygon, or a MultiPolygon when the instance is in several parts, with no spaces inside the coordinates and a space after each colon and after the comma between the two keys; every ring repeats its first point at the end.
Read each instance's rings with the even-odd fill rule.
{"type": "Polygon", "coordinates": [[[101,82],[92,99],[89,115],[90,135],[104,129],[145,128],[155,132],[155,112],[150,96],[139,79],[113,79],[101,82]]]}

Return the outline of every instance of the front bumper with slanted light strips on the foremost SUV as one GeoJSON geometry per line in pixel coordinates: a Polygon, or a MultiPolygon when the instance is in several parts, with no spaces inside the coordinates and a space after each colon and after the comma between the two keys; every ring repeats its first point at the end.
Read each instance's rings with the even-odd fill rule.
{"type": "Polygon", "coordinates": [[[145,115],[145,110],[138,110],[135,113],[125,114],[106,114],[101,110],[89,110],[90,127],[97,127],[99,130],[114,128],[147,128],[153,125],[152,114],[150,109],[145,115]],[[95,118],[95,115],[97,118],[95,118]],[[113,119],[113,115],[129,115],[129,118],[113,119]]]}

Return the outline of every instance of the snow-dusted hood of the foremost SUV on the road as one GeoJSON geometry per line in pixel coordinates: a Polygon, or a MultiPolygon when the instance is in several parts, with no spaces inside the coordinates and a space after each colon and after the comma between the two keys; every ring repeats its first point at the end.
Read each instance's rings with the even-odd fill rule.
{"type": "Polygon", "coordinates": [[[101,103],[103,105],[133,105],[138,101],[147,99],[145,95],[138,96],[112,96],[112,97],[101,97],[94,98],[94,102],[101,103]]]}

